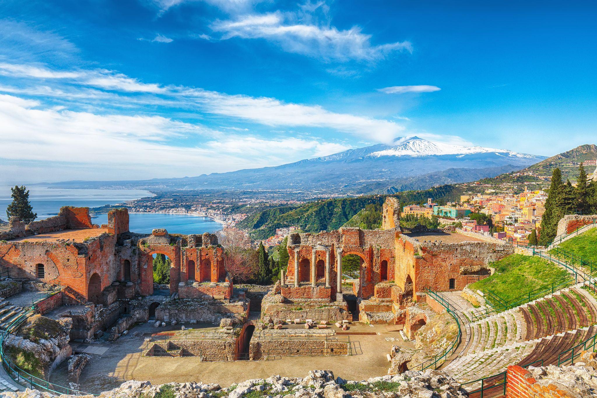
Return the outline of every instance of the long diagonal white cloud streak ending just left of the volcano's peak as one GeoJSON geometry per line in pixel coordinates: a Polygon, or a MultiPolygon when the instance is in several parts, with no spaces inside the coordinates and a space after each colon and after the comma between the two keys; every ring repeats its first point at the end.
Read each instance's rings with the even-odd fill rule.
{"type": "MultiPolygon", "coordinates": [[[[29,69],[23,65],[3,67],[0,64],[0,73],[19,75],[22,70],[29,69]]],[[[44,73],[51,75],[51,70],[44,73]]],[[[28,76],[35,78],[35,75],[36,73],[30,73],[28,76]]],[[[213,115],[229,116],[271,127],[331,128],[367,140],[385,143],[390,143],[393,138],[404,131],[404,127],[393,121],[350,113],[331,112],[317,105],[286,103],[271,97],[230,95],[201,88],[144,83],[138,79],[109,70],[78,70],[73,72],[72,81],[87,87],[110,90],[114,93],[147,94],[141,97],[127,95],[120,99],[118,97],[110,98],[111,103],[120,101],[127,106],[143,103],[160,104],[162,106],[198,109],[213,115]]],[[[84,91],[66,85],[61,87],[60,91],[64,92],[64,90],[75,90],[77,101],[80,101],[81,96],[85,95],[84,91]]],[[[110,93],[102,94],[101,92],[91,91],[89,94],[95,97],[96,95],[105,96],[110,93]]]]}

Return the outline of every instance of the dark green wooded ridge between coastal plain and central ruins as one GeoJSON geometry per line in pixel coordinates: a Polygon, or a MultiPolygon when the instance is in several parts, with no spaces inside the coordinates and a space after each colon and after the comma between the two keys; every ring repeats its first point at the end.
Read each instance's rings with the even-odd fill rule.
{"type": "Polygon", "coordinates": [[[326,199],[310,202],[298,207],[279,207],[257,212],[242,220],[239,228],[251,230],[253,239],[266,239],[276,228],[297,226],[304,232],[320,232],[338,229],[367,205],[381,206],[387,196],[400,200],[401,205],[434,200],[457,199],[462,190],[456,186],[444,185],[428,190],[406,191],[396,195],[359,196],[358,198],[326,199]]]}

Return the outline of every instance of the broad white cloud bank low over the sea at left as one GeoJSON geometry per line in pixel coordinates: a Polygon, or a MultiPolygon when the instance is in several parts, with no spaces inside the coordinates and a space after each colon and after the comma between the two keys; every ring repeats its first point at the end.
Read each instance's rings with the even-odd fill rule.
{"type": "Polygon", "coordinates": [[[19,175],[29,180],[81,178],[81,171],[100,179],[122,179],[124,170],[137,179],[172,177],[181,169],[199,175],[246,168],[248,157],[262,167],[346,149],[317,138],[226,134],[217,140],[217,131],[161,116],[73,112],[2,94],[0,125],[2,163],[19,164],[19,175]],[[210,140],[187,140],[193,136],[210,140]]]}

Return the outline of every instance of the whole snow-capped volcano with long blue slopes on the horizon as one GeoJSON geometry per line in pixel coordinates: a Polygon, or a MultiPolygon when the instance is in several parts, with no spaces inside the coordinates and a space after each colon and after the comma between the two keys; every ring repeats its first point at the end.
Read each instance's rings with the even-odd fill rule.
{"type": "Polygon", "coordinates": [[[510,150],[459,146],[412,137],[285,165],[144,181],[73,181],[61,187],[154,190],[290,190],[320,195],[427,189],[523,169],[544,159],[510,150]]]}

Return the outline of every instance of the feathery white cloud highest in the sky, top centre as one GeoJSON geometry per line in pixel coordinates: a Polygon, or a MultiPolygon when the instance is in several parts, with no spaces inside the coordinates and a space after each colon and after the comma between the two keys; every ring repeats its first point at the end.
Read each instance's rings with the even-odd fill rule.
{"type": "Polygon", "coordinates": [[[211,28],[222,33],[222,39],[267,39],[285,51],[335,61],[377,61],[394,51],[412,51],[410,42],[371,44],[371,35],[353,26],[338,30],[334,26],[292,21],[291,14],[249,14],[235,20],[217,21],[211,28]]]}

